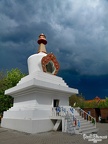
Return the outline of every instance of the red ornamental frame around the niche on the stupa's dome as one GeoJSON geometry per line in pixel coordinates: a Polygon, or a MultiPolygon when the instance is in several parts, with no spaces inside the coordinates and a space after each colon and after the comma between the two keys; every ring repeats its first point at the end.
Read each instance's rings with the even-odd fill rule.
{"type": "Polygon", "coordinates": [[[55,67],[55,71],[53,74],[56,75],[58,73],[60,66],[59,66],[59,63],[58,63],[56,57],[52,53],[49,53],[42,58],[42,60],[41,60],[42,69],[44,72],[47,72],[46,65],[51,61],[53,62],[54,67],[55,67]]]}

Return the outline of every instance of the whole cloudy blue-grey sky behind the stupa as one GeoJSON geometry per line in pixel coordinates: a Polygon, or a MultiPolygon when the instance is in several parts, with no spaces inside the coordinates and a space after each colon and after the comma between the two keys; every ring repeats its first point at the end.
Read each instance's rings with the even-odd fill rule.
{"type": "Polygon", "coordinates": [[[108,0],[0,0],[0,70],[27,73],[40,33],[58,76],[86,99],[108,96],[108,0]]]}

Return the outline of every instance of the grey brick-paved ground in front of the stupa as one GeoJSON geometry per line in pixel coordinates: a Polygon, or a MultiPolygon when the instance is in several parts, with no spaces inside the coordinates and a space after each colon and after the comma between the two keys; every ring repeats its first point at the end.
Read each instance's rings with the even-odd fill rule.
{"type": "MultiPolygon", "coordinates": [[[[97,123],[98,136],[108,136],[108,124],[97,123]]],[[[62,132],[27,134],[10,129],[0,128],[0,144],[93,144],[83,139],[82,135],[70,135],[62,132]]],[[[108,144],[108,138],[97,142],[108,144]]]]}

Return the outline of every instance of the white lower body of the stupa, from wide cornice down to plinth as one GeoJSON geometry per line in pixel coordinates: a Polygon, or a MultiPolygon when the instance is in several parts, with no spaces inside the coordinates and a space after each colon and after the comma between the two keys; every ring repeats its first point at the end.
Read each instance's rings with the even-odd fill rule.
{"type": "Polygon", "coordinates": [[[38,133],[53,129],[54,125],[50,120],[53,100],[59,99],[60,106],[68,106],[69,96],[78,93],[78,90],[33,78],[6,90],[5,93],[14,97],[14,105],[4,112],[1,126],[38,133]],[[44,124],[44,120],[46,124],[44,124]],[[42,121],[42,125],[38,125],[40,121],[42,121]],[[38,128],[38,126],[40,127],[38,128]]]}

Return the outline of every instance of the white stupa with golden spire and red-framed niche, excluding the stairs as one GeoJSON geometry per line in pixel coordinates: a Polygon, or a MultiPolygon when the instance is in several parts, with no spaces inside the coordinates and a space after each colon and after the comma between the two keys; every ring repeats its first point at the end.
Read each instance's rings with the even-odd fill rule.
{"type": "Polygon", "coordinates": [[[39,36],[38,44],[38,53],[28,58],[29,75],[5,91],[6,95],[14,97],[14,104],[4,112],[2,127],[28,133],[52,130],[52,108],[68,106],[69,96],[78,93],[56,76],[59,63],[52,53],[46,53],[44,34],[39,36]]]}

